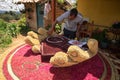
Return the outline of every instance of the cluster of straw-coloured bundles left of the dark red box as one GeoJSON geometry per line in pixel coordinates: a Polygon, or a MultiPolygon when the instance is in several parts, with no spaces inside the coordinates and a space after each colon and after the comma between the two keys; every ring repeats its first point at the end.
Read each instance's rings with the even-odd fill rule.
{"type": "MultiPolygon", "coordinates": [[[[35,33],[33,31],[29,31],[27,33],[27,37],[25,39],[25,42],[32,46],[33,53],[40,53],[40,42],[44,40],[46,37],[48,37],[47,30],[44,28],[39,28],[38,33],[35,33]]],[[[55,33],[52,34],[54,36],[55,33]]]]}

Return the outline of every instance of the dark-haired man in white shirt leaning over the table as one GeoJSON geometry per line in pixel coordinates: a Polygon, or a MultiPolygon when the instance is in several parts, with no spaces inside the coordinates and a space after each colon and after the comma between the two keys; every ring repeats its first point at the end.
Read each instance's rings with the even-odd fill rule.
{"type": "Polygon", "coordinates": [[[63,21],[63,36],[69,39],[75,39],[76,37],[79,37],[79,28],[83,22],[83,16],[78,13],[76,8],[68,10],[60,15],[53,23],[52,28],[49,29],[48,34],[52,34],[52,32],[55,31],[55,25],[63,21]]]}

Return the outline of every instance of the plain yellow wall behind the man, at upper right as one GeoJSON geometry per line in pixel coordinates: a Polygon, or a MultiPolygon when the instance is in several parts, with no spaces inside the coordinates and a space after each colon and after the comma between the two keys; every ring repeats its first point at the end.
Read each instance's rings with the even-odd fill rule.
{"type": "Polygon", "coordinates": [[[111,26],[120,21],[120,0],[78,0],[77,8],[95,24],[111,26]]]}

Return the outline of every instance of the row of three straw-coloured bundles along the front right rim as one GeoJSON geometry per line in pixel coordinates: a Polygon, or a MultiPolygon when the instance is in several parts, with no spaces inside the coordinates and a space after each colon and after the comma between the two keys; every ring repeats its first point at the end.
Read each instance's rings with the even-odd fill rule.
{"type": "Polygon", "coordinates": [[[71,45],[68,48],[67,53],[57,52],[53,57],[51,57],[50,63],[55,67],[67,67],[90,59],[98,52],[98,41],[95,39],[89,39],[87,45],[89,48],[87,51],[82,50],[76,45],[71,45]]]}

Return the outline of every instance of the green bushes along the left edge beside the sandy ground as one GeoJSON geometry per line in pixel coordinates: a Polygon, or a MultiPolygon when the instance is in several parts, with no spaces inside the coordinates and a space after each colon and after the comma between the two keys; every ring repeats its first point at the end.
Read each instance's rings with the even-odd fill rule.
{"type": "MultiPolygon", "coordinates": [[[[14,15],[12,12],[10,14],[14,15]]],[[[9,23],[0,19],[0,48],[7,47],[12,43],[12,38],[17,37],[20,32],[25,33],[27,31],[28,27],[26,26],[25,16],[22,16],[17,23],[9,23]]]]}

